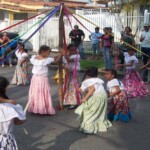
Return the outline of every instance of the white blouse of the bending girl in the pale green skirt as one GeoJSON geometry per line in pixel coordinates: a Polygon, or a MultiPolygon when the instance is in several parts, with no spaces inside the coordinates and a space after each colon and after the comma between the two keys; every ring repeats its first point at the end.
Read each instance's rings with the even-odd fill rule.
{"type": "Polygon", "coordinates": [[[90,86],[94,86],[95,91],[93,94],[105,92],[103,84],[104,81],[99,78],[86,79],[81,85],[81,90],[85,92],[90,86]]]}

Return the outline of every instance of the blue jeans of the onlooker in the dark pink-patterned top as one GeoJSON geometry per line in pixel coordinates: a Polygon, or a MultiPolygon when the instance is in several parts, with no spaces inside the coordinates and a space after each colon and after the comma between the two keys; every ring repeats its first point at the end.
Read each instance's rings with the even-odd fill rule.
{"type": "Polygon", "coordinates": [[[103,58],[105,63],[105,69],[112,69],[112,58],[110,53],[110,48],[102,47],[103,58]]]}

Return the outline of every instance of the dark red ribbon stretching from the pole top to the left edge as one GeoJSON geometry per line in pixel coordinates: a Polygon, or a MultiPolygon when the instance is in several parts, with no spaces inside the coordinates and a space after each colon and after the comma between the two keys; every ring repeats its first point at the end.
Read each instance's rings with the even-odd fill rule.
{"type": "Polygon", "coordinates": [[[19,25],[19,24],[22,24],[22,23],[24,23],[24,22],[26,22],[26,21],[29,21],[29,20],[31,20],[31,19],[33,19],[33,18],[35,18],[35,17],[37,17],[37,16],[40,16],[41,14],[44,14],[44,13],[46,13],[46,12],[48,12],[48,11],[50,11],[50,10],[46,10],[46,11],[44,11],[44,12],[41,12],[40,14],[34,15],[34,16],[30,17],[30,18],[27,18],[27,19],[25,19],[25,20],[22,20],[22,21],[16,23],[16,24],[13,24],[13,25],[11,25],[11,26],[9,26],[9,27],[6,27],[6,28],[0,30],[0,32],[3,32],[3,31],[5,31],[5,30],[8,30],[8,29],[10,29],[10,28],[12,28],[12,27],[15,27],[15,26],[17,26],[17,25],[19,25]]]}

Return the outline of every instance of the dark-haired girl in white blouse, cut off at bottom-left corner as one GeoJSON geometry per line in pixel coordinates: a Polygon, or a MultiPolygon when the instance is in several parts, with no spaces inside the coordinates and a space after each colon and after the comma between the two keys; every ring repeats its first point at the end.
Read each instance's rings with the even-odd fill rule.
{"type": "Polygon", "coordinates": [[[9,100],[6,95],[8,85],[7,79],[0,77],[0,149],[18,150],[13,136],[13,126],[21,125],[26,118],[20,105],[10,104],[12,100],[9,100]]]}

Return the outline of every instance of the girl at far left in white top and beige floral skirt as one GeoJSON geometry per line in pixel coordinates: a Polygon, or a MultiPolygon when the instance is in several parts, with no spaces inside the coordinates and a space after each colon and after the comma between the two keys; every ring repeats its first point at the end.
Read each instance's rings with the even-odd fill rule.
{"type": "Polygon", "coordinates": [[[28,85],[30,83],[30,76],[28,74],[28,54],[24,50],[24,44],[18,43],[18,50],[15,52],[18,63],[12,79],[12,84],[16,85],[28,85]]]}

